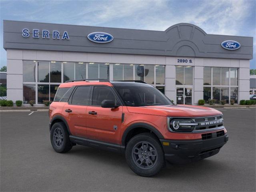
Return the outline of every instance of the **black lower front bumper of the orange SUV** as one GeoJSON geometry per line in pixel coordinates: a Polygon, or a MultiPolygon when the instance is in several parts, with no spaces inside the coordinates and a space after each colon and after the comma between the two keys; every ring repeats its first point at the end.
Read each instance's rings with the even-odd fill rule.
{"type": "Polygon", "coordinates": [[[160,139],[166,160],[171,163],[198,161],[217,154],[228,141],[228,135],[207,140],[160,139]]]}

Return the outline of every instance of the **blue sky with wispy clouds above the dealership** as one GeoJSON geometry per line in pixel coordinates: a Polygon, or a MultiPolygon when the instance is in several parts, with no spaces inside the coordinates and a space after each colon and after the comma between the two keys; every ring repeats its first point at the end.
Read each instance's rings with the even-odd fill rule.
{"type": "MultiPolygon", "coordinates": [[[[166,30],[192,23],[207,34],[254,37],[256,69],[256,0],[0,0],[2,20],[34,21],[145,30],[166,30]]],[[[0,48],[0,67],[6,51],[0,48]]]]}

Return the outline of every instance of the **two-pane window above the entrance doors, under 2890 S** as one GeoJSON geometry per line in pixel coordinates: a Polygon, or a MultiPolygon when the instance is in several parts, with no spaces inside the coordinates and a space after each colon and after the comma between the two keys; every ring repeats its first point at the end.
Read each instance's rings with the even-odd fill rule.
{"type": "Polygon", "coordinates": [[[192,66],[175,66],[176,67],[176,85],[193,84],[193,67],[192,66]]]}

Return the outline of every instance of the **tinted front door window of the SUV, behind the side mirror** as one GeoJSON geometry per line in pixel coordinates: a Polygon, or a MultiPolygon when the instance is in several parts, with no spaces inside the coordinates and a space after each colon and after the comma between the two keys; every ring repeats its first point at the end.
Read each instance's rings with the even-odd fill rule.
{"type": "Polygon", "coordinates": [[[103,100],[113,100],[115,103],[116,97],[112,90],[105,86],[94,86],[92,94],[92,105],[100,106],[103,100]]]}

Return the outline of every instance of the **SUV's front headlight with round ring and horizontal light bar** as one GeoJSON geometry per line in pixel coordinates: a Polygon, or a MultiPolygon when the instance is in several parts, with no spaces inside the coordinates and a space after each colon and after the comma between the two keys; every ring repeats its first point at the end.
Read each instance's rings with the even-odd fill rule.
{"type": "Polygon", "coordinates": [[[170,119],[169,130],[176,132],[190,132],[194,130],[195,123],[192,119],[170,119]]]}

